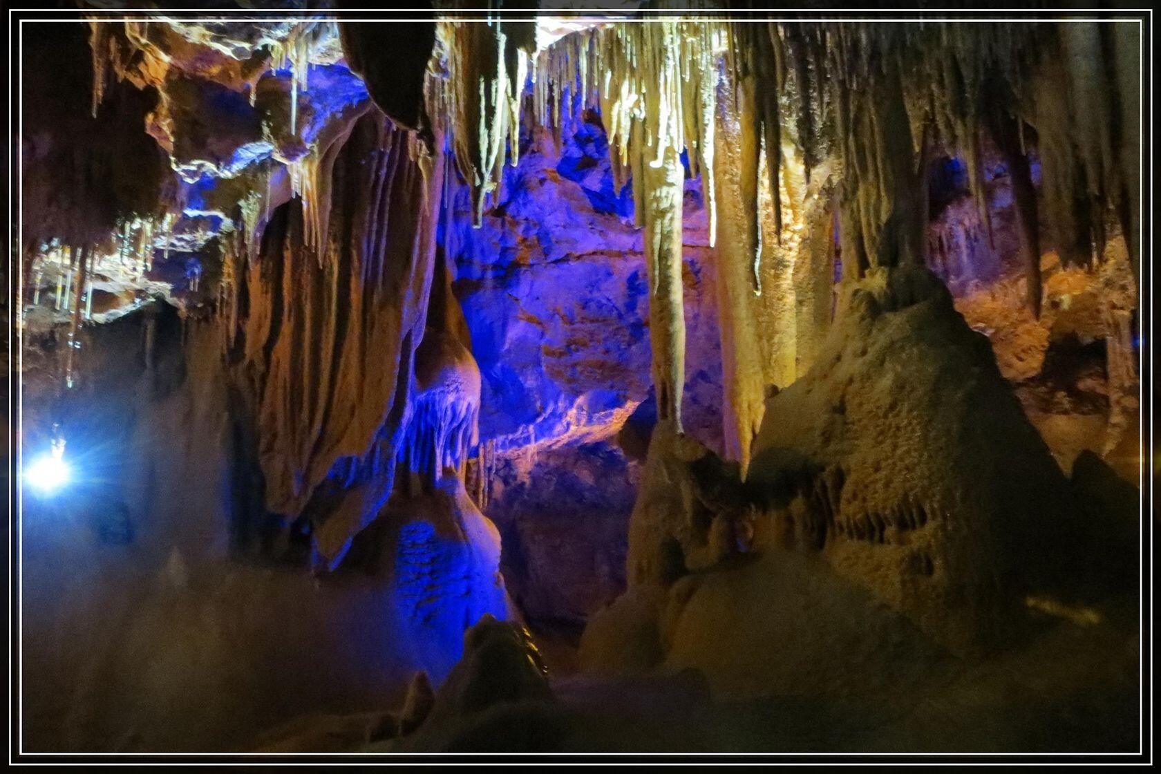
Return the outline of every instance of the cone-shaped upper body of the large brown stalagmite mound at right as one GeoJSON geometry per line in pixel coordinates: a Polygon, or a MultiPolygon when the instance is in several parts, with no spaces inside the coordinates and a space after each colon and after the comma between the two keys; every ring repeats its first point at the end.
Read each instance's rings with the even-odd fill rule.
{"type": "Polygon", "coordinates": [[[789,487],[784,540],[951,646],[995,636],[1063,559],[1040,552],[1068,545],[1063,476],[987,339],[923,272],[854,292],[815,367],[767,400],[756,448],[755,483],[789,487]]]}

